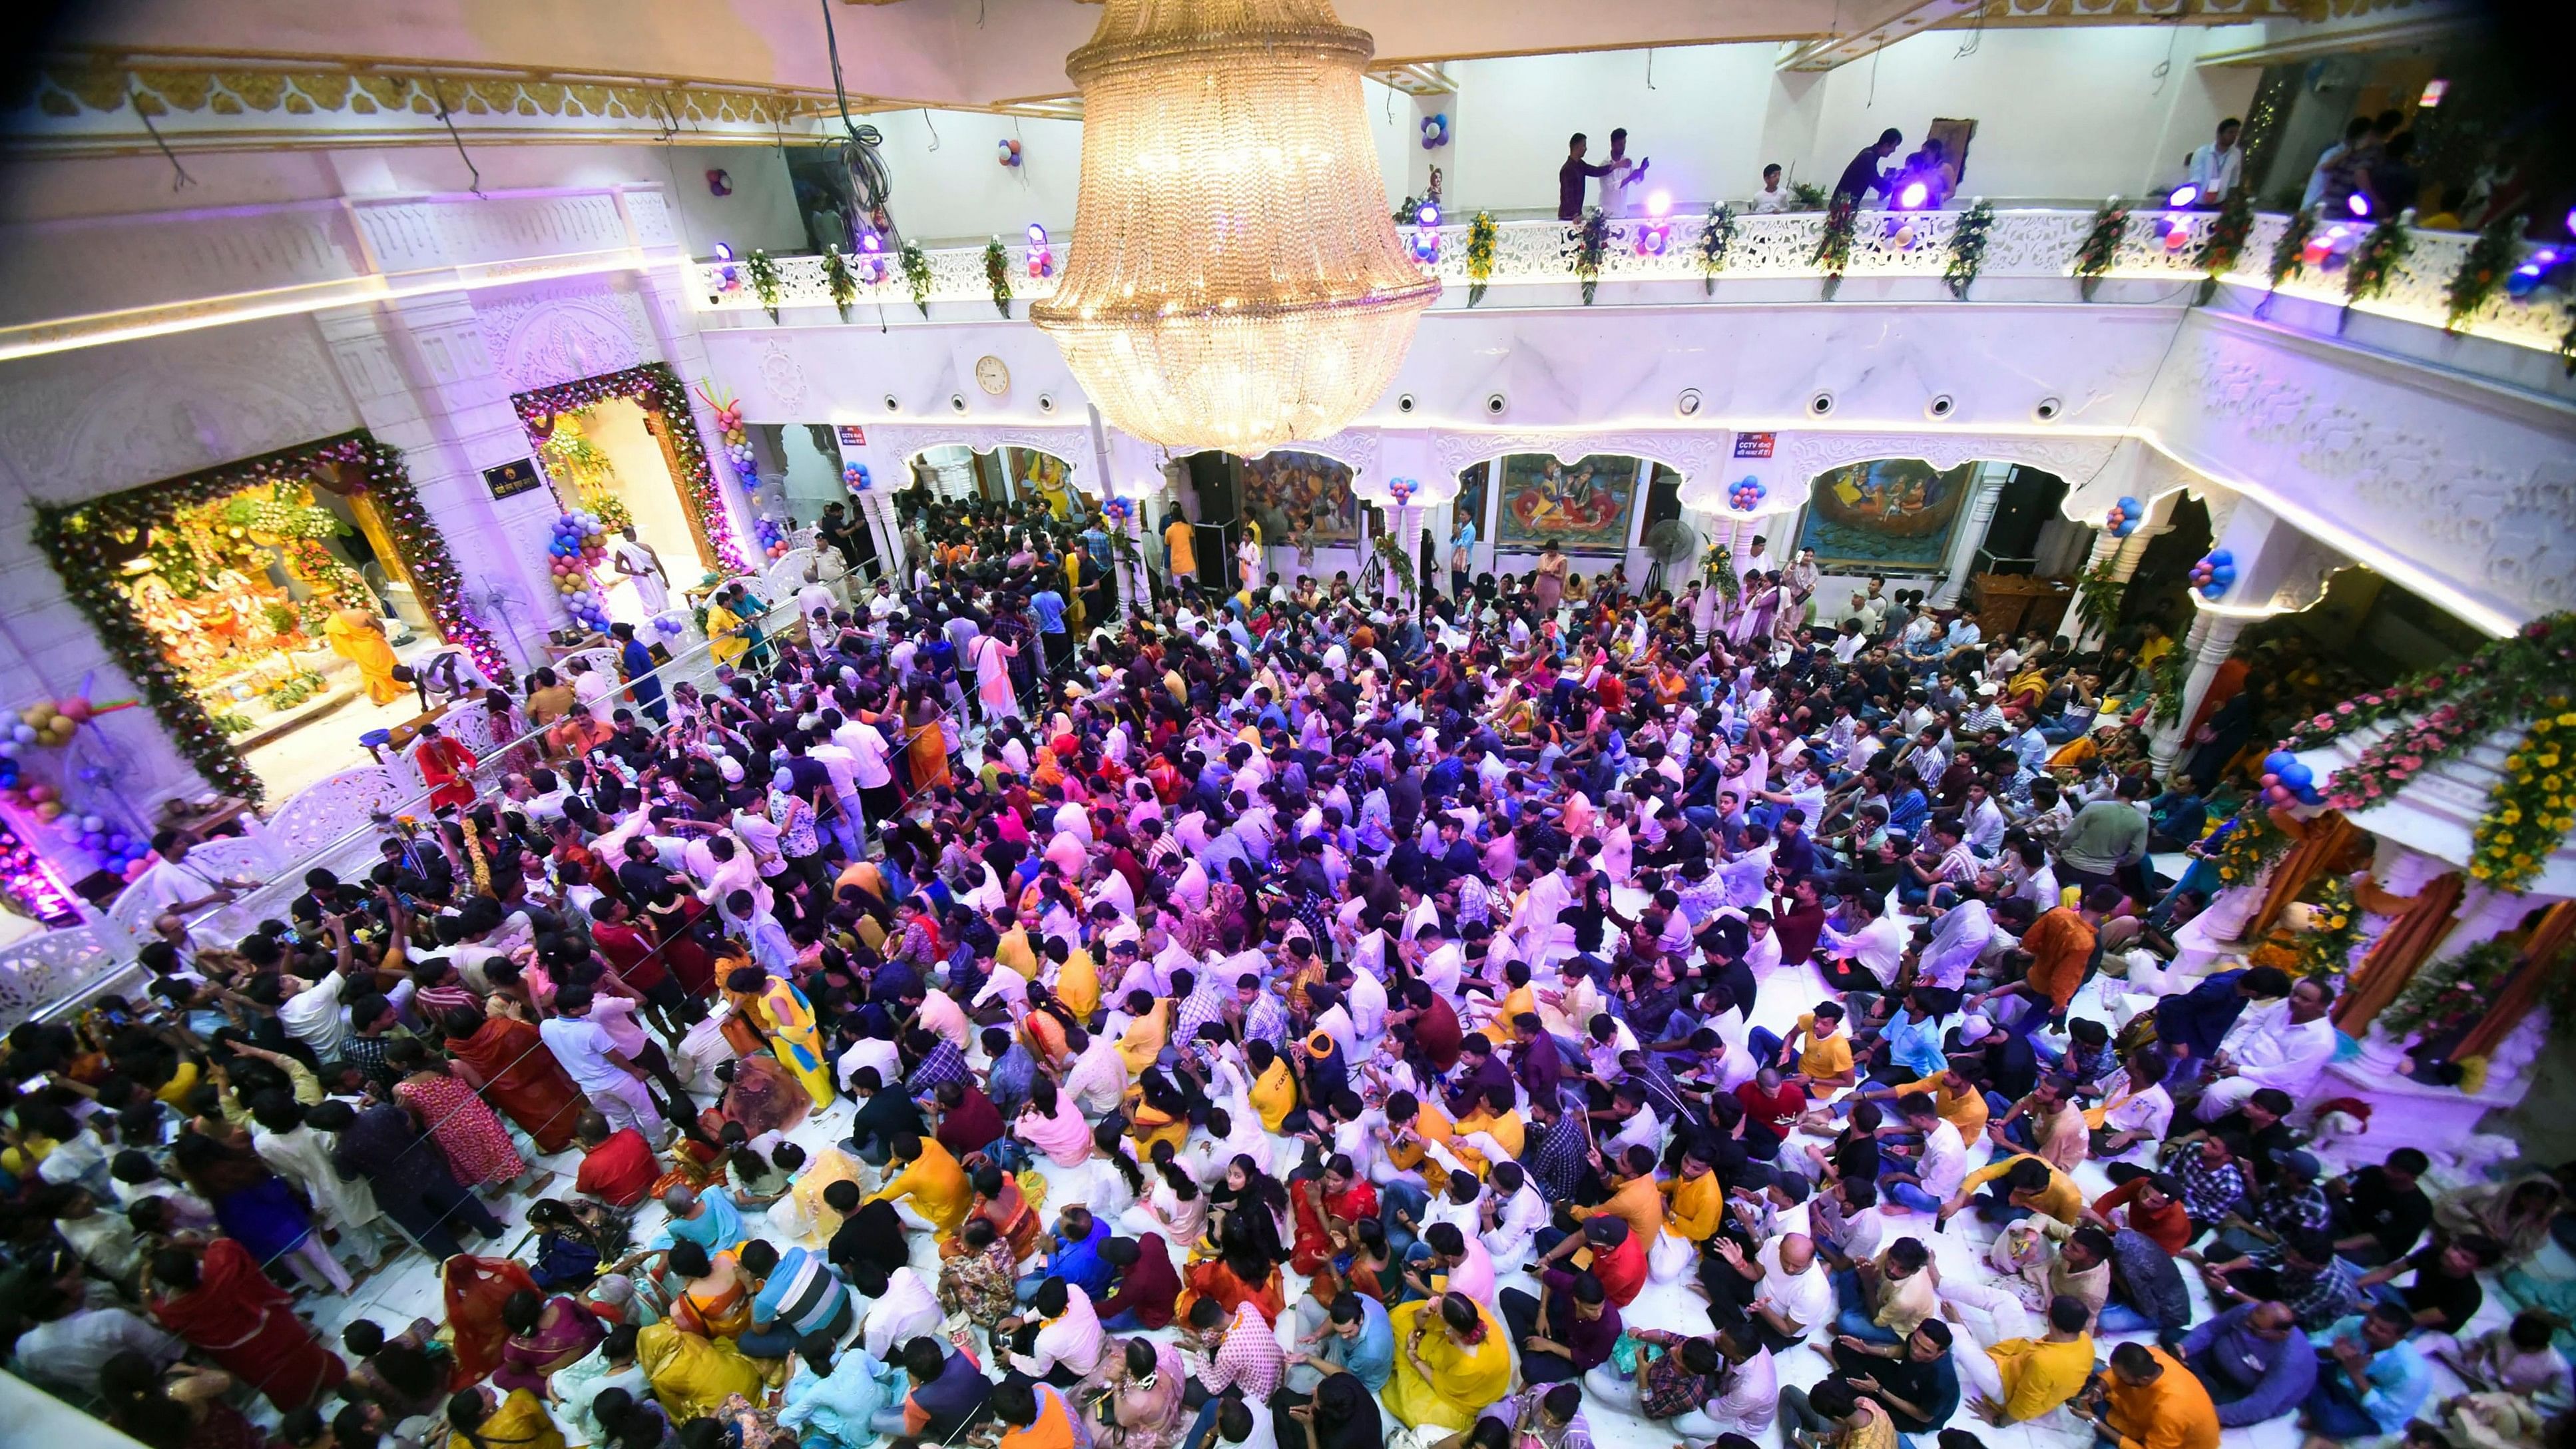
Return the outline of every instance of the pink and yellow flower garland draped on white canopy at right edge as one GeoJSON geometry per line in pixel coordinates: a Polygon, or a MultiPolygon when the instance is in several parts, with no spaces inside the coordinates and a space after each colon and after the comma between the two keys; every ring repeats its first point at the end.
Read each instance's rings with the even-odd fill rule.
{"type": "Polygon", "coordinates": [[[2576,817],[2568,678],[2576,678],[2576,614],[2550,614],[2458,665],[2347,699],[2293,730],[2280,748],[2316,750],[2354,730],[2403,722],[2324,784],[2336,810],[2367,810],[2496,730],[2527,724],[2486,794],[2468,861],[2470,879],[2519,890],[2576,817]]]}

